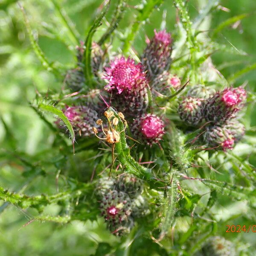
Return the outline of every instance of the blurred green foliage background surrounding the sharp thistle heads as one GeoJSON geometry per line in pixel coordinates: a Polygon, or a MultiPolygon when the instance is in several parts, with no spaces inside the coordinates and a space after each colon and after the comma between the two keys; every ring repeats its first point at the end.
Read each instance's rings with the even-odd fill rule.
{"type": "MultiPolygon", "coordinates": [[[[183,253],[179,255],[185,256],[196,253],[212,234],[234,241],[240,255],[255,255],[255,233],[225,230],[227,224],[256,225],[256,195],[255,190],[250,190],[255,187],[256,178],[256,2],[191,0],[190,17],[186,12],[177,16],[175,6],[183,3],[180,0],[126,2],[122,6],[122,1],[111,0],[107,10],[102,0],[0,1],[0,187],[6,189],[0,190],[0,198],[6,200],[0,201],[0,255],[178,255],[179,251],[183,253]],[[24,8],[25,19],[18,3],[24,8]],[[125,9],[123,17],[115,10],[118,4],[125,9]],[[102,9],[108,12],[105,17],[102,15],[102,26],[97,28],[95,20],[102,9]],[[186,189],[176,212],[171,209],[175,198],[163,197],[161,202],[167,206],[167,216],[175,214],[175,221],[164,222],[175,227],[174,246],[168,227],[151,236],[143,235],[144,229],[151,229],[148,223],[135,225],[128,236],[113,236],[104,220],[96,217],[97,210],[89,211],[92,204],[97,204],[86,198],[93,193],[94,183],[84,183],[90,180],[92,170],[99,174],[105,169],[111,155],[102,156],[94,138],[79,140],[73,155],[72,141],[52,125],[55,117],[33,108],[42,98],[44,102],[39,103],[46,106],[47,100],[54,101],[55,95],[60,95],[65,71],[76,65],[75,46],[86,39],[91,25],[96,24],[93,41],[99,41],[109,31],[109,23],[115,24],[116,20],[118,29],[106,37],[111,51],[120,53],[124,45],[126,55],[137,58],[145,48],[145,35],[150,38],[154,29],[166,27],[177,39],[173,72],[183,76],[184,81],[189,76],[192,84],[216,83],[220,88],[227,86],[228,81],[235,86],[245,84],[249,91],[242,116],[247,132],[231,153],[202,151],[193,155],[194,163],[188,166],[192,157],[183,145],[186,136],[170,135],[173,159],[178,163],[175,168],[185,170],[189,177],[201,178],[180,181],[186,189]],[[29,40],[26,23],[30,24],[30,40],[34,44],[29,40]],[[189,69],[180,52],[191,55],[189,69]],[[206,72],[198,75],[196,70],[201,65],[206,72]],[[53,95],[53,99],[47,99],[47,94],[53,95]],[[182,158],[175,159],[177,152],[182,158]],[[19,197],[23,194],[31,198],[23,200],[19,197]],[[81,194],[85,196],[81,198],[81,194]],[[56,218],[58,215],[61,218],[56,218]],[[154,236],[160,234],[166,238],[155,241],[154,236]]],[[[166,116],[172,119],[172,114],[170,111],[166,116]]],[[[139,158],[136,149],[132,155],[135,160],[139,158]]],[[[154,157],[159,157],[157,168],[169,168],[159,151],[154,157]]],[[[145,169],[140,167],[140,171],[145,169]]],[[[148,182],[151,186],[149,176],[148,182]]],[[[150,224],[153,230],[159,223],[150,224]]]]}

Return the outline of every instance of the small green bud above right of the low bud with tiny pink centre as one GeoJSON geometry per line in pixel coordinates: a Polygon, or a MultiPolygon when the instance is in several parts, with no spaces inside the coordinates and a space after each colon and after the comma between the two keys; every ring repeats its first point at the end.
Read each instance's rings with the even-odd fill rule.
{"type": "Polygon", "coordinates": [[[120,175],[117,180],[116,189],[127,193],[130,198],[134,198],[142,192],[142,180],[130,174],[120,175]]]}

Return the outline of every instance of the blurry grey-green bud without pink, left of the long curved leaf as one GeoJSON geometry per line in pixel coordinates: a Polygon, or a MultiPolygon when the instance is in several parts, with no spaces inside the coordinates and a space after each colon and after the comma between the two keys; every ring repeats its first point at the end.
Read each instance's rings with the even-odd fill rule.
{"type": "Polygon", "coordinates": [[[74,92],[83,88],[84,81],[84,73],[81,67],[68,70],[64,79],[64,83],[67,85],[67,87],[69,87],[74,92]]]}

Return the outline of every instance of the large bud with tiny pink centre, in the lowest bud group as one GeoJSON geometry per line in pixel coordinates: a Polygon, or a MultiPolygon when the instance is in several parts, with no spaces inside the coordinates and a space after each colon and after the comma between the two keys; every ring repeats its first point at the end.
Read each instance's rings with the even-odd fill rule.
{"type": "Polygon", "coordinates": [[[131,200],[125,193],[113,190],[103,195],[100,210],[110,230],[118,234],[117,230],[129,221],[131,200]]]}

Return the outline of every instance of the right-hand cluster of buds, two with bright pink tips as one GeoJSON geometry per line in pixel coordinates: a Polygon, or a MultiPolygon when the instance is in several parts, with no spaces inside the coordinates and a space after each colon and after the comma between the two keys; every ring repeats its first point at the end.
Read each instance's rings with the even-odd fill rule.
{"type": "Polygon", "coordinates": [[[246,101],[242,87],[227,88],[215,92],[202,85],[192,87],[178,107],[180,119],[188,125],[209,122],[204,133],[204,143],[211,148],[232,149],[244,135],[244,125],[236,119],[236,113],[246,101]]]}

